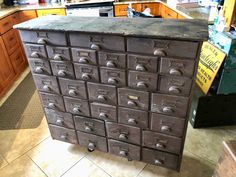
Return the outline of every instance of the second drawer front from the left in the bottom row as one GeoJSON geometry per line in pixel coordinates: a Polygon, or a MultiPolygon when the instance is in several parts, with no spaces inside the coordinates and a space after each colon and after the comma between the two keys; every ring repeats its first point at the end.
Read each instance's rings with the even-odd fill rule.
{"type": "Polygon", "coordinates": [[[81,146],[87,147],[89,151],[100,150],[107,152],[107,140],[104,137],[83,133],[77,131],[79,144],[81,146]]]}

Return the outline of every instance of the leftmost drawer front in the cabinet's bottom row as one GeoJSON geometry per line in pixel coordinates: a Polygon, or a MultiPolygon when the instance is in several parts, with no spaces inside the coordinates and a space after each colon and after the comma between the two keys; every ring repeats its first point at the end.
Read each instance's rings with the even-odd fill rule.
{"type": "Polygon", "coordinates": [[[65,141],[72,144],[78,144],[75,130],[50,124],[48,125],[48,127],[53,139],[65,141]]]}

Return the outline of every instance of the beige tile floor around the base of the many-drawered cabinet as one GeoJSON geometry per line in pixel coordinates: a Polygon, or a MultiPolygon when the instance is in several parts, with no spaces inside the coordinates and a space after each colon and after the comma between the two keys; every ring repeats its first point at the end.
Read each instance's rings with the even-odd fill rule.
{"type": "Polygon", "coordinates": [[[189,125],[177,173],[52,140],[43,118],[34,129],[0,130],[0,177],[211,177],[222,141],[229,139],[236,139],[236,126],[193,129],[189,125]]]}

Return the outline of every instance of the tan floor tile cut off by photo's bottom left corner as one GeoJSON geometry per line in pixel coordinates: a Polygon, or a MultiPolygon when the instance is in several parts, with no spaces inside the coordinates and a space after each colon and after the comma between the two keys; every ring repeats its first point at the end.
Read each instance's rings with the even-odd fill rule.
{"type": "Polygon", "coordinates": [[[26,155],[16,159],[0,170],[2,177],[46,177],[46,175],[26,155]]]}

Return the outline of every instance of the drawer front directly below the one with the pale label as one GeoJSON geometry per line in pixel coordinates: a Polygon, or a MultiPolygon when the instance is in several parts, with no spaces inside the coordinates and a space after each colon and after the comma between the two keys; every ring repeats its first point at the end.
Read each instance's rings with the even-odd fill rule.
{"type": "Polygon", "coordinates": [[[119,107],[118,122],[135,127],[148,128],[148,112],[119,107]]]}

